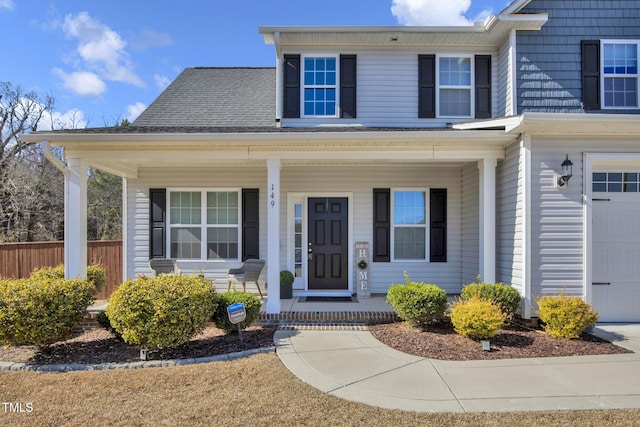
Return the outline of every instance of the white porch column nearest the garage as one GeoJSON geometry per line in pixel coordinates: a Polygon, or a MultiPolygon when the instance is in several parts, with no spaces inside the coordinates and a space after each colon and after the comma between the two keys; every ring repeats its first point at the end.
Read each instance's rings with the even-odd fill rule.
{"type": "Polygon", "coordinates": [[[480,169],[480,276],[496,281],[496,166],[497,159],[478,161],[480,169]]]}

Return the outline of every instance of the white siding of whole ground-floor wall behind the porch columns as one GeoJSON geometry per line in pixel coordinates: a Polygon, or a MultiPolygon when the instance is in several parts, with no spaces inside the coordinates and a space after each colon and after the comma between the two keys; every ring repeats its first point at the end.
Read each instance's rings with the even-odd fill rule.
{"type": "MultiPolygon", "coordinates": [[[[465,186],[465,200],[477,199],[477,163],[470,163],[465,170],[471,171],[465,186]]],[[[462,185],[461,168],[439,165],[422,166],[283,166],[281,170],[281,268],[289,266],[288,238],[290,227],[287,218],[287,195],[289,193],[315,194],[343,193],[350,195],[349,210],[353,216],[350,232],[353,242],[373,244],[373,188],[446,188],[447,189],[447,262],[429,263],[394,261],[370,263],[371,291],[386,293],[393,283],[403,283],[406,271],[412,280],[437,284],[449,293],[459,293],[462,271],[469,277],[478,274],[477,255],[477,207],[467,206],[466,221],[469,223],[465,242],[465,262],[470,267],[463,268],[462,256],[462,185]],[[475,242],[475,243],[474,243],[475,242]],[[471,273],[473,272],[473,273],[471,273]]],[[[151,274],[149,260],[149,189],[150,188],[259,188],[260,206],[266,206],[266,167],[251,168],[175,168],[141,169],[140,178],[128,180],[127,277],[136,274],[151,274]]],[[[477,204],[477,201],[473,202],[477,204]]],[[[266,259],[266,210],[260,212],[260,257],[266,259]]],[[[350,248],[352,252],[353,248],[350,248]]],[[[179,266],[183,273],[203,271],[208,278],[216,279],[219,290],[226,289],[226,271],[240,262],[182,261],[179,266]]],[[[265,269],[266,270],[266,269],[265,269]]],[[[353,274],[353,269],[349,272],[353,274]]],[[[266,271],[263,272],[266,277],[266,271]]],[[[353,280],[353,279],[352,279],[353,280]]]]}

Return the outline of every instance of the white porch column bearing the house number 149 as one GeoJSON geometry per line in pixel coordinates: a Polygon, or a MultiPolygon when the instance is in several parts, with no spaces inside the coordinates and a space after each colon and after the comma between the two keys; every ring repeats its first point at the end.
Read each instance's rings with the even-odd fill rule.
{"type": "Polygon", "coordinates": [[[267,313],[280,313],[280,160],[267,160],[267,313]]]}

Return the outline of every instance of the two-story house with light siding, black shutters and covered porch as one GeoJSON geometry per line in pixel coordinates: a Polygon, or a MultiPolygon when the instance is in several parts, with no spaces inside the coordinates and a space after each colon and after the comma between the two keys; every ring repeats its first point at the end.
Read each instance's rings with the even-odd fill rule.
{"type": "Polygon", "coordinates": [[[449,293],[480,275],[525,318],[566,289],[640,321],[637,1],[259,33],[275,68],[189,68],[131,126],[24,136],[65,148],[69,276],[93,166],[124,178],[125,277],[166,257],[226,283],[263,258],[270,285],[288,269],[297,295],[351,295],[364,245],[374,294],[405,271],[449,293]]]}

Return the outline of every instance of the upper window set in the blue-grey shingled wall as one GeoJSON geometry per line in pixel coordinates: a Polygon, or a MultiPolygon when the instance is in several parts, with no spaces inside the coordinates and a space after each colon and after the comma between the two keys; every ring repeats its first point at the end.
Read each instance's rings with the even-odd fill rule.
{"type": "Polygon", "coordinates": [[[638,108],[638,46],[632,40],[602,41],[602,107],[638,108]]]}

